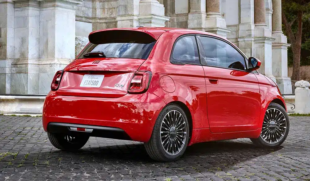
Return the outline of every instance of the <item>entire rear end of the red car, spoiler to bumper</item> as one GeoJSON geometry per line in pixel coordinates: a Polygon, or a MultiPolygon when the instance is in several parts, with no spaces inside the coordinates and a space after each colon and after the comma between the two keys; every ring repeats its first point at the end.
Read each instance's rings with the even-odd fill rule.
{"type": "Polygon", "coordinates": [[[55,74],[43,107],[44,130],[147,142],[165,104],[147,91],[151,70],[139,67],[163,32],[91,33],[77,59],[55,74]]]}

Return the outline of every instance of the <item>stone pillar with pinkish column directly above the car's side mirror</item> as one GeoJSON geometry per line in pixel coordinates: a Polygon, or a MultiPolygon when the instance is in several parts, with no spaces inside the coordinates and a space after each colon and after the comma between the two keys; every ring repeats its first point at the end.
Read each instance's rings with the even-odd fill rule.
{"type": "Polygon", "coordinates": [[[272,75],[272,41],[271,32],[266,25],[266,7],[264,0],[254,1],[255,51],[254,56],[262,61],[259,72],[276,81],[272,75]]]}

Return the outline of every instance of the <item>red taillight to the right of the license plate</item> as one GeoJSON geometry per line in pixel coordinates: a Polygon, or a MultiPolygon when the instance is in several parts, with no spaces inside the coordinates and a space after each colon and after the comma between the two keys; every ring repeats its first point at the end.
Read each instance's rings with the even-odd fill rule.
{"type": "Polygon", "coordinates": [[[144,93],[148,90],[152,79],[152,72],[137,71],[130,81],[129,93],[144,93]]]}

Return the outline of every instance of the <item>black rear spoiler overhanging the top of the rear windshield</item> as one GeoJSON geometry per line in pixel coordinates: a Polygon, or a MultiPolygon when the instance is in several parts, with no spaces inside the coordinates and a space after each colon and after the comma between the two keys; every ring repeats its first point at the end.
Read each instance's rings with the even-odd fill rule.
{"type": "Polygon", "coordinates": [[[88,36],[93,44],[103,43],[152,43],[157,38],[148,31],[141,29],[104,29],[94,31],[88,36]]]}

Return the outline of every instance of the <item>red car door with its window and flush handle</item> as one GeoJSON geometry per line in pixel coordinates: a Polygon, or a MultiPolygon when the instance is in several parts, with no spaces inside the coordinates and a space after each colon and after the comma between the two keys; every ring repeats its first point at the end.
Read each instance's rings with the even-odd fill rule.
{"type": "Polygon", "coordinates": [[[257,129],[261,99],[259,84],[255,72],[246,71],[246,57],[222,38],[196,37],[205,73],[210,131],[257,129]]]}

